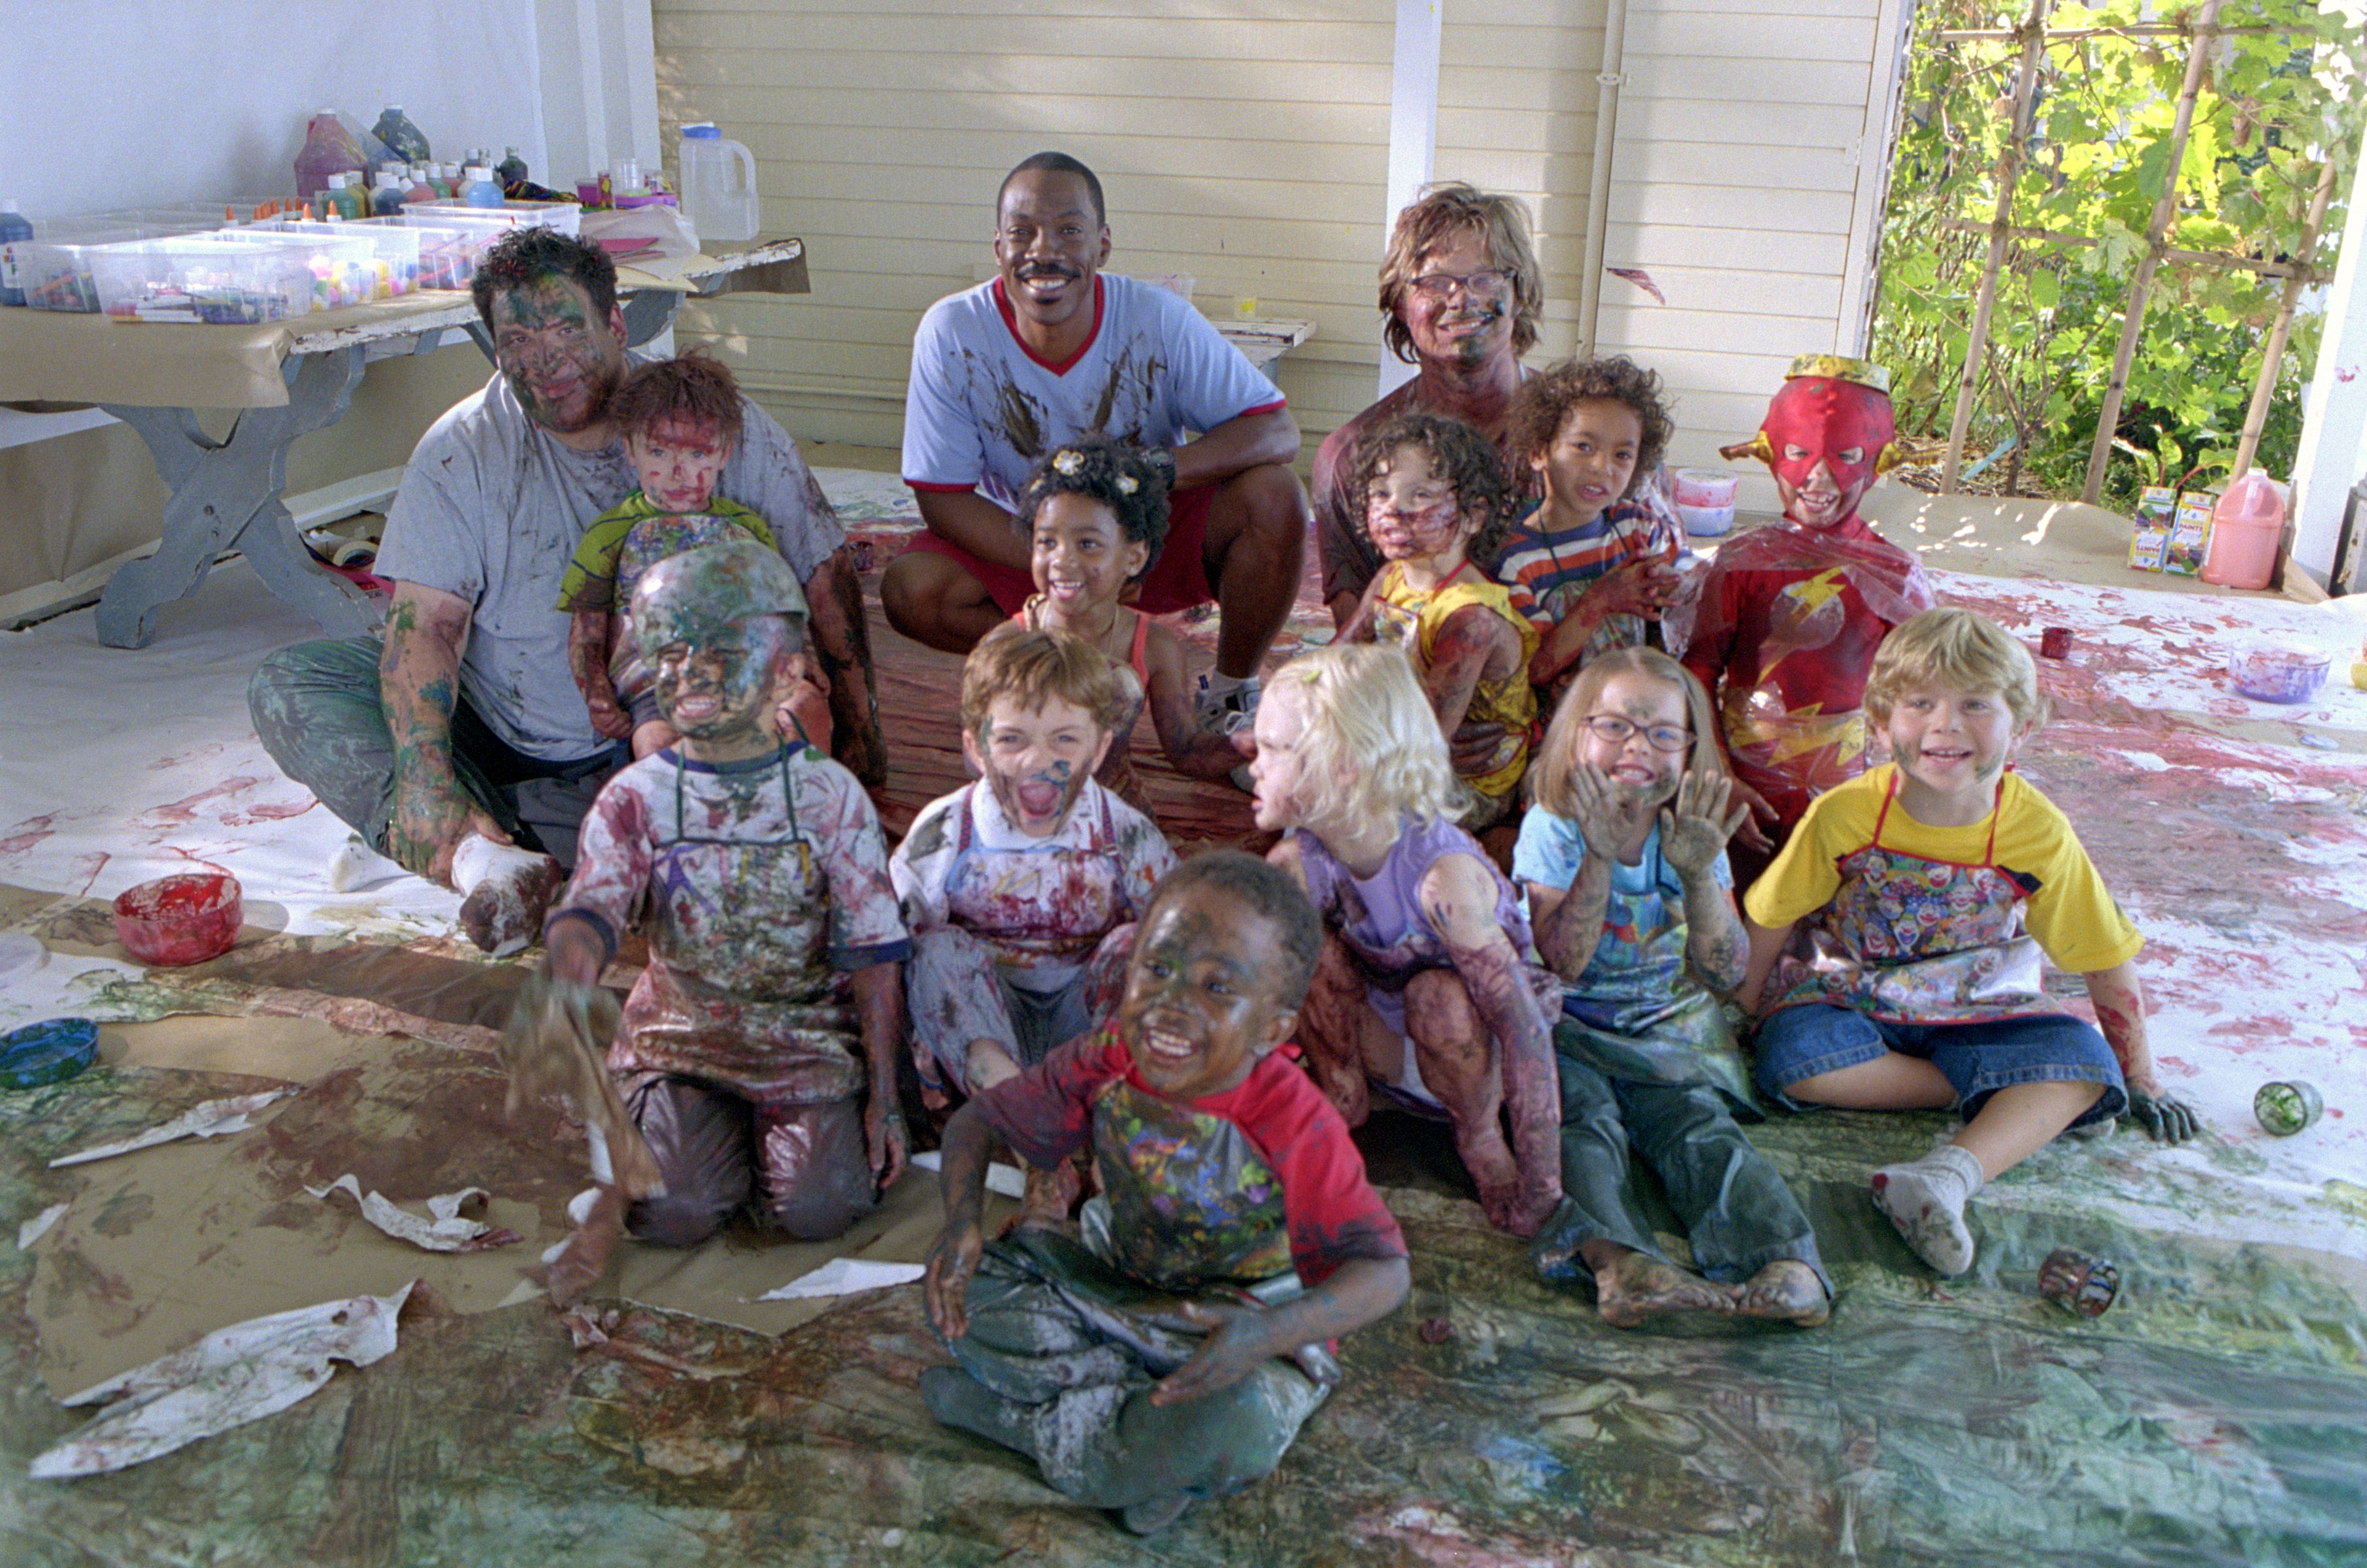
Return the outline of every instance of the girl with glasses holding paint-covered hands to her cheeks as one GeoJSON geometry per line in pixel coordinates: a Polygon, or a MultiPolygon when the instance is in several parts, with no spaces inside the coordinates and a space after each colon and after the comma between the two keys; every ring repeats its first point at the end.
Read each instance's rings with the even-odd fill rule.
{"type": "Polygon", "coordinates": [[[1742,809],[1726,809],[1709,695],[1657,648],[1598,655],[1562,695],[1529,788],[1513,875],[1565,984],[1553,1029],[1565,1197],[1529,1256],[1548,1279],[1584,1265],[1621,1329],[1697,1310],[1825,1322],[1832,1291],[1808,1216],[1735,1126],[1735,1112],[1759,1121],[1716,996],[1742,986],[1749,953],[1726,873],[1742,809]],[[1652,1239],[1631,1149],[1669,1194],[1700,1275],[1652,1239]]]}

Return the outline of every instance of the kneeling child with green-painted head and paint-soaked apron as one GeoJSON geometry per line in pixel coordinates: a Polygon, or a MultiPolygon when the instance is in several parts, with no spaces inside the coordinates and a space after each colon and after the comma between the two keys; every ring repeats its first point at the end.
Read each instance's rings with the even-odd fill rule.
{"type": "MultiPolygon", "coordinates": [[[[623,1220],[696,1246],[755,1190],[800,1242],[836,1237],[904,1168],[897,965],[911,944],[878,816],[854,773],[765,728],[805,639],[781,556],[755,539],[670,556],[630,615],[682,738],[601,790],[544,927],[568,986],[599,979],[637,915],[649,932],[608,1071],[665,1194],[623,1220]]],[[[578,1263],[589,1284],[606,1246],[578,1263]]]]}

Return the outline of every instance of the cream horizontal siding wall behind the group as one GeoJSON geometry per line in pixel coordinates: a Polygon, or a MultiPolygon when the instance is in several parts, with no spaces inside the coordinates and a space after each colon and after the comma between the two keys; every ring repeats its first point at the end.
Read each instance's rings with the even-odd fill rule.
{"type": "MultiPolygon", "coordinates": [[[[1576,345],[1605,0],[1446,0],[1437,173],[1522,196],[1548,274],[1534,359],[1576,345]]],[[[1600,341],[1681,400],[1676,461],[1756,428],[1797,352],[1856,343],[1868,125],[1898,0],[1636,0],[1600,341]]],[[[715,118],[814,293],[694,305],[798,435],[897,445],[911,329],[989,263],[994,184],[1058,147],[1108,187],[1120,272],[1217,317],[1316,322],[1281,369],[1314,438],[1373,395],[1392,0],[656,0],[667,142],[715,118]],[[1058,47],[1051,35],[1058,33],[1058,47]]]]}

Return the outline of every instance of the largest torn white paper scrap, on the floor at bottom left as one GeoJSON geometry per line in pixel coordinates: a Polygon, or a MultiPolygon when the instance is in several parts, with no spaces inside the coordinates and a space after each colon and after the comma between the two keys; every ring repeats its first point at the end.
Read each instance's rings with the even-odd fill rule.
{"type": "Polygon", "coordinates": [[[121,1471],[296,1405],[329,1381],[329,1362],[367,1367],[395,1348],[412,1284],[249,1317],[80,1391],[64,1402],[109,1407],[33,1459],[33,1478],[121,1471]]]}

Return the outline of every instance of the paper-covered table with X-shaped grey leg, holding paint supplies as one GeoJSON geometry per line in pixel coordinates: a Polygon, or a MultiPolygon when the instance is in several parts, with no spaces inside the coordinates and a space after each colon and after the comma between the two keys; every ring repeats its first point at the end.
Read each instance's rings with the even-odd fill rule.
{"type": "MultiPolygon", "coordinates": [[[[691,293],[807,293],[805,241],[776,239],[729,255],[698,255],[663,274],[625,265],[618,286],[625,341],[639,345],[665,331],[691,293]]],[[[173,492],[156,553],[116,568],[99,594],[99,641],[144,648],[156,636],[156,610],[194,594],[230,549],[246,556],[272,594],[331,636],[376,631],[383,605],[324,568],[296,532],[282,501],[286,454],[298,435],[343,419],[372,359],[428,355],[464,341],[492,359],[492,338],[476,305],[452,291],[421,291],[260,331],[125,326],[107,317],[0,310],[0,362],[14,352],[19,367],[40,367],[26,385],[0,378],[0,397],[107,409],[140,433],[173,492]],[[277,369],[277,385],[258,367],[277,369]],[[227,400],[239,409],[227,440],[204,433],[196,407],[166,402],[192,385],[208,390],[204,407],[225,407],[227,400]]]]}

